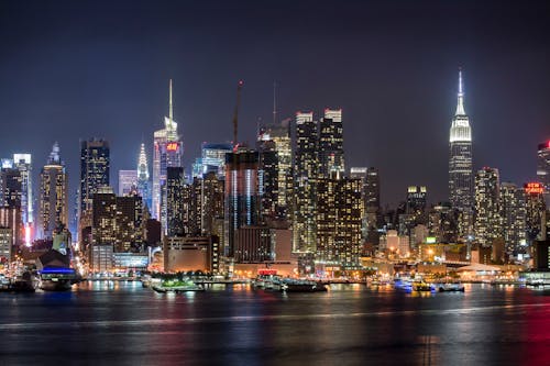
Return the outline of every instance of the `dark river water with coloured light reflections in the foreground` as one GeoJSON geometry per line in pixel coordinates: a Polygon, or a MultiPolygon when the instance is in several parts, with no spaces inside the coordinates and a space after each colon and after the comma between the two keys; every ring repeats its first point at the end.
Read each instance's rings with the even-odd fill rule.
{"type": "Polygon", "coordinates": [[[0,309],[2,365],[550,365],[550,292],[514,287],[161,295],[85,282],[0,293],[0,309]]]}

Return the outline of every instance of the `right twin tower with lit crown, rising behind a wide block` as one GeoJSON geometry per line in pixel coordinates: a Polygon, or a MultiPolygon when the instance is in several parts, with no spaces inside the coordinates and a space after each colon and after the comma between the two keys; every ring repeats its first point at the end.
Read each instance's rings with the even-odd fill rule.
{"type": "Polygon", "coordinates": [[[327,108],[319,122],[319,170],[323,178],[334,171],[343,175],[345,170],[341,109],[327,108]]]}

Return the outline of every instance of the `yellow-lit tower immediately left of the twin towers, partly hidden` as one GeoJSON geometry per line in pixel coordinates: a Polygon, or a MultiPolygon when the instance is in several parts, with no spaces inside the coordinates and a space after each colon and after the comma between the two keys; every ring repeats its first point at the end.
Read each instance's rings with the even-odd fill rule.
{"type": "Polygon", "coordinates": [[[293,193],[293,148],[289,121],[264,125],[260,129],[260,141],[272,141],[277,154],[277,213],[288,218],[293,193]]]}

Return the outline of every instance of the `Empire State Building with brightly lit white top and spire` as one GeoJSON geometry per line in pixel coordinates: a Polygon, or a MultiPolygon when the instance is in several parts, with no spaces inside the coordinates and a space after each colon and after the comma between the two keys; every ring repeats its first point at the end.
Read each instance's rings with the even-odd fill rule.
{"type": "Polygon", "coordinates": [[[461,210],[473,207],[472,129],[464,110],[462,71],[459,71],[459,100],[449,138],[449,200],[461,210]]]}

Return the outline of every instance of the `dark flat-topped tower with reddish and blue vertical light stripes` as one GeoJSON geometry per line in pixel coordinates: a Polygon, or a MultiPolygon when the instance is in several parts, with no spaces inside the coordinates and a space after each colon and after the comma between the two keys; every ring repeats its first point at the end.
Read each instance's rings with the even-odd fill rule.
{"type": "Polygon", "coordinates": [[[226,155],[226,256],[233,257],[235,233],[260,221],[258,154],[239,148],[226,155]]]}

